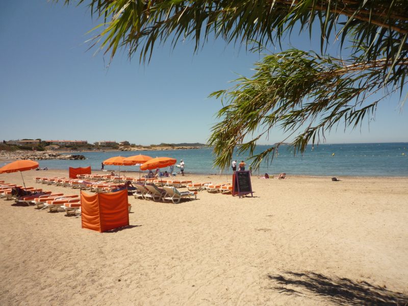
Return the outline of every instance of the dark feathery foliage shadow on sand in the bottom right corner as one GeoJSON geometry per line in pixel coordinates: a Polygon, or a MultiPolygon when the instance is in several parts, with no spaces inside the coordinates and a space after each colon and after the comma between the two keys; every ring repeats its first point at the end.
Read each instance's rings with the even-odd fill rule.
{"type": "Polygon", "coordinates": [[[348,278],[331,278],[314,272],[285,271],[281,275],[268,274],[268,277],[278,285],[269,289],[279,293],[301,295],[296,289],[303,289],[339,305],[408,305],[407,294],[373,286],[364,281],[355,282],[348,278]]]}

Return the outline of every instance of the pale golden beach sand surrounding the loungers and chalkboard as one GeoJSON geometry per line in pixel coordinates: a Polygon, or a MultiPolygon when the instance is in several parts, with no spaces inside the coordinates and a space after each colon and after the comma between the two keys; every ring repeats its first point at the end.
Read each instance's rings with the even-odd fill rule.
{"type": "MultiPolygon", "coordinates": [[[[39,174],[67,171],[25,171],[26,184],[79,193],[39,174]]],[[[0,304],[407,303],[408,178],[339,178],[253,176],[254,197],[200,191],[180,204],[129,197],[131,225],[103,234],[0,199],[0,304]]]]}

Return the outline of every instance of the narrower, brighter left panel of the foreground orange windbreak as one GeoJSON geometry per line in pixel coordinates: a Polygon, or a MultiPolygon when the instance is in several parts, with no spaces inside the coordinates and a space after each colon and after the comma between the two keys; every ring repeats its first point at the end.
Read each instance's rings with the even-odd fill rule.
{"type": "Polygon", "coordinates": [[[88,194],[81,191],[81,219],[82,228],[101,232],[98,194],[88,194]]]}

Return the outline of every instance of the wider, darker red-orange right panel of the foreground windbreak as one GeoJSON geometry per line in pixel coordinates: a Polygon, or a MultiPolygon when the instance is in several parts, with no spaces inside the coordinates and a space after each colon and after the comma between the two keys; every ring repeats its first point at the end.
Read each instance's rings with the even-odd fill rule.
{"type": "Polygon", "coordinates": [[[101,232],[129,225],[127,189],[98,193],[101,232]]]}

